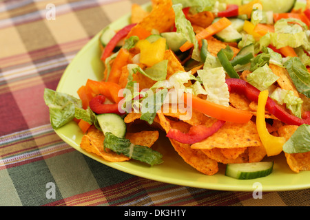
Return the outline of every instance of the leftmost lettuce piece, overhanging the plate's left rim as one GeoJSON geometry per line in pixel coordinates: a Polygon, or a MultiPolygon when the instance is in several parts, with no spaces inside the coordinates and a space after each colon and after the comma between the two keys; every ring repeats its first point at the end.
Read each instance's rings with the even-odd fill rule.
{"type": "Polygon", "coordinates": [[[82,102],[74,96],[45,88],[43,95],[50,111],[50,123],[53,129],[59,129],[74,119],[75,109],[82,109],[82,102]]]}

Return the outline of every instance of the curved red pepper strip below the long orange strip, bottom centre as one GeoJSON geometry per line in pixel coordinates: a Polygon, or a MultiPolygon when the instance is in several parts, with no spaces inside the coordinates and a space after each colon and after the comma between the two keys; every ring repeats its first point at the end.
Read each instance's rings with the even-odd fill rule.
{"type": "Polygon", "coordinates": [[[166,136],[183,144],[194,144],[216,133],[223,124],[225,124],[225,121],[217,120],[210,127],[204,125],[192,126],[188,133],[183,133],[178,129],[170,129],[166,136]]]}

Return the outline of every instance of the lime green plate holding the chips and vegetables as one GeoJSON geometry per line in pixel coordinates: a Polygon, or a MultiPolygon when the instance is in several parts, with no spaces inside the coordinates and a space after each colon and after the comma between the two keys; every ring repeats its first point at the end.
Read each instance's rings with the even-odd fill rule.
{"type": "MultiPolygon", "coordinates": [[[[127,14],[110,24],[110,27],[114,28],[114,30],[122,28],[130,21],[129,19],[130,14],[127,14]]],[[[68,65],[56,89],[57,91],[65,92],[78,98],[76,91],[81,85],[85,85],[88,78],[101,80],[104,66],[100,60],[99,36],[100,33],[94,36],[68,65]]],[[[161,133],[158,142],[156,142],[153,148],[163,154],[164,162],[152,167],[133,159],[128,162],[106,162],[99,156],[83,151],[79,147],[83,133],[81,133],[79,126],[75,122],[70,122],[61,127],[61,129],[57,129],[56,133],[62,140],[75,148],[76,151],[102,164],[125,173],[169,184],[229,191],[254,191],[256,190],[257,183],[261,184],[263,191],[310,188],[310,171],[293,173],[287,165],[283,154],[268,158],[275,162],[271,175],[258,179],[238,180],[225,176],[225,165],[220,166],[219,172],[213,176],[199,173],[195,168],[186,164],[178,153],[174,151],[174,148],[163,133],[161,133]]]]}

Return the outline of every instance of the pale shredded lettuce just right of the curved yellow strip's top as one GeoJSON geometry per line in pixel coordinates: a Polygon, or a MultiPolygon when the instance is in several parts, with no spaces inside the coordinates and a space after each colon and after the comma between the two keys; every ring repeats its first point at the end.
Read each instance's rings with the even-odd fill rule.
{"type": "Polygon", "coordinates": [[[293,91],[276,88],[270,95],[270,98],[276,100],[279,104],[285,104],[287,109],[291,110],[293,115],[301,118],[302,113],[302,99],[294,96],[293,91]]]}

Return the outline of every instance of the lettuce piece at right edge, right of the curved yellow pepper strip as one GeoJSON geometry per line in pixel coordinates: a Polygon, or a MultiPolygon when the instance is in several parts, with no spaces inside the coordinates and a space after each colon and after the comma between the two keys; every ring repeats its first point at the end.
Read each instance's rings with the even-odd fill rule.
{"type": "Polygon", "coordinates": [[[283,145],[285,153],[306,153],[310,151],[310,125],[298,126],[295,133],[283,145]]]}

